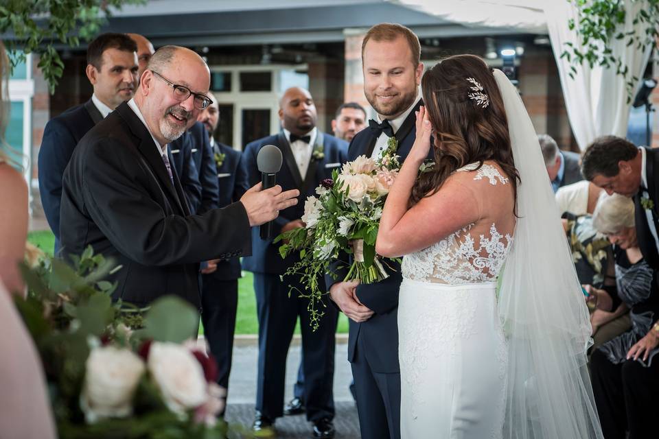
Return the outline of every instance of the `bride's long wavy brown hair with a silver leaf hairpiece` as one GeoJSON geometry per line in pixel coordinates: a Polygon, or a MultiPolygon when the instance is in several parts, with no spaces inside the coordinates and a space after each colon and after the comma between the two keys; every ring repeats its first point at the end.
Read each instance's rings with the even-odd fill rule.
{"type": "MultiPolygon", "coordinates": [[[[424,105],[435,139],[435,167],[421,174],[410,198],[416,204],[439,188],[456,169],[495,161],[507,174],[517,199],[520,176],[513,161],[505,108],[492,71],[481,58],[457,55],[441,60],[421,80],[424,105]],[[486,108],[469,97],[472,78],[489,98],[486,108]]],[[[517,202],[516,202],[517,205],[517,202]]]]}

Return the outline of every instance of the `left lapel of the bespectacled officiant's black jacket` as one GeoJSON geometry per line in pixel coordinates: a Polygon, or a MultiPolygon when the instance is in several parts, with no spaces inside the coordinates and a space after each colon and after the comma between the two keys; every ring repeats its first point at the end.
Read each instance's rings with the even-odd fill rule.
{"type": "MultiPolygon", "coordinates": [[[[172,155],[167,153],[167,157],[170,159],[170,165],[172,166],[172,174],[174,174],[174,185],[178,185],[178,191],[174,185],[172,185],[170,174],[167,173],[167,168],[163,162],[163,156],[158,153],[148,128],[146,128],[142,121],[139,120],[139,117],[137,117],[135,112],[128,106],[128,104],[126,104],[126,102],[119,105],[116,111],[119,112],[119,115],[121,115],[126,123],[128,123],[128,127],[132,133],[135,134],[137,138],[139,138],[137,149],[151,168],[151,171],[156,177],[160,187],[162,187],[164,191],[168,192],[171,197],[176,200],[176,206],[178,206],[178,209],[180,209],[181,212],[187,212],[188,210],[183,208],[183,203],[181,203],[181,198],[178,195],[179,191],[181,194],[183,194],[183,189],[181,189],[181,182],[178,181],[176,172],[174,172],[174,161],[172,159],[172,155]]],[[[169,150],[169,148],[167,148],[167,150],[169,150]]],[[[183,200],[185,201],[185,198],[183,198],[183,200]]]]}

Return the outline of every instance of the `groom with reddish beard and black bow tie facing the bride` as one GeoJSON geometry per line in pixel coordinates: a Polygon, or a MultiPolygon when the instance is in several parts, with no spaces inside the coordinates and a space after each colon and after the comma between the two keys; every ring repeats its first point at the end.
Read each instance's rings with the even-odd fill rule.
{"type": "MultiPolygon", "coordinates": [[[[402,25],[380,23],[362,43],[364,93],[378,112],[350,143],[348,160],[379,158],[391,137],[404,161],[416,137],[415,111],[421,106],[418,86],[424,71],[419,38],[402,25]]],[[[400,265],[390,263],[386,280],[359,285],[341,282],[346,270],[336,263],[337,278],[326,277],[329,296],[350,318],[348,360],[362,439],[400,438],[400,368],[398,366],[398,289],[400,265]]]]}

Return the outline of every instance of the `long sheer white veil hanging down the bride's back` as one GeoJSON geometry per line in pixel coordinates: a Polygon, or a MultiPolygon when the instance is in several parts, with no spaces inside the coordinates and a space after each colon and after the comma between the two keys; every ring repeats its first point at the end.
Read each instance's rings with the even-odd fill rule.
{"type": "Polygon", "coordinates": [[[588,309],[540,145],[515,86],[500,70],[494,78],[521,180],[499,292],[509,355],[504,438],[602,438],[586,369],[588,309]]]}

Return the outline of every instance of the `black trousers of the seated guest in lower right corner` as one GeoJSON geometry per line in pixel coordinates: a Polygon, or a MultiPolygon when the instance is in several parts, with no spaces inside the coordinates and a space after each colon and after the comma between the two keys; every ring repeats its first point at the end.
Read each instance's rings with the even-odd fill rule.
{"type": "Polygon", "coordinates": [[[656,438],[659,362],[649,368],[638,361],[613,364],[596,349],[592,354],[592,391],[605,439],[656,438]]]}

